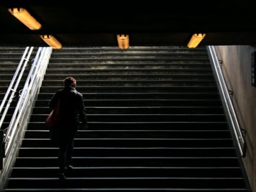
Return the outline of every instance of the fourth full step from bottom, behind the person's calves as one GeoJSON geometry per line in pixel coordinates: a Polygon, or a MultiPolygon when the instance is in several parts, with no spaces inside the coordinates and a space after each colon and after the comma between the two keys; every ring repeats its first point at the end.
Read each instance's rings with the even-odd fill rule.
{"type": "MultiPolygon", "coordinates": [[[[234,157],[236,150],[229,147],[206,148],[74,148],[75,157],[234,157]]],[[[20,148],[19,157],[54,157],[58,148],[20,148]]]]}

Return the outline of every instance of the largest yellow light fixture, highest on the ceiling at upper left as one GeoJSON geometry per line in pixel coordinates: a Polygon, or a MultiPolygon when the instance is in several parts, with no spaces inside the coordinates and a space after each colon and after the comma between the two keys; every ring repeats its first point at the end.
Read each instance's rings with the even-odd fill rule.
{"type": "Polygon", "coordinates": [[[26,25],[31,30],[39,30],[42,25],[34,18],[29,12],[24,8],[10,8],[8,9],[12,15],[19,19],[24,25],[26,25]]]}

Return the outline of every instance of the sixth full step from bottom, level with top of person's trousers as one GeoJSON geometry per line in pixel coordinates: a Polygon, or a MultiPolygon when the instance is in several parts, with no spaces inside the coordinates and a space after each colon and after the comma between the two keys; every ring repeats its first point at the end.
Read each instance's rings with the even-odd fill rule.
{"type": "MultiPolygon", "coordinates": [[[[49,128],[48,128],[49,129],[49,128]]],[[[156,129],[156,127],[155,127],[156,129]]],[[[48,130],[27,130],[25,138],[49,138],[48,130]]],[[[76,138],[231,138],[228,130],[79,130],[76,138]]]]}

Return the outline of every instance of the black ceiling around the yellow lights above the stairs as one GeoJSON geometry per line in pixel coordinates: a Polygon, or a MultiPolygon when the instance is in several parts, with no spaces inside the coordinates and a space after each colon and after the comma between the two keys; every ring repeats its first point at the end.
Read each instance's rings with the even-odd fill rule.
{"type": "Polygon", "coordinates": [[[45,46],[40,34],[54,35],[63,46],[117,46],[116,34],[129,34],[130,46],[186,46],[194,33],[207,34],[200,45],[255,45],[254,1],[6,0],[0,46],[45,46]],[[43,27],[28,29],[11,7],[26,8],[43,27]]]}

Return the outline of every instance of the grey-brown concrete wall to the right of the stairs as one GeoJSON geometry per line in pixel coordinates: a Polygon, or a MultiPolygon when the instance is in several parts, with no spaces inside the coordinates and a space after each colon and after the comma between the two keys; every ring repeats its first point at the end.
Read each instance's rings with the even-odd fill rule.
{"type": "Polygon", "coordinates": [[[243,159],[252,190],[256,192],[256,88],[251,86],[253,46],[216,46],[222,71],[241,126],[247,130],[247,156],[243,159]]]}

